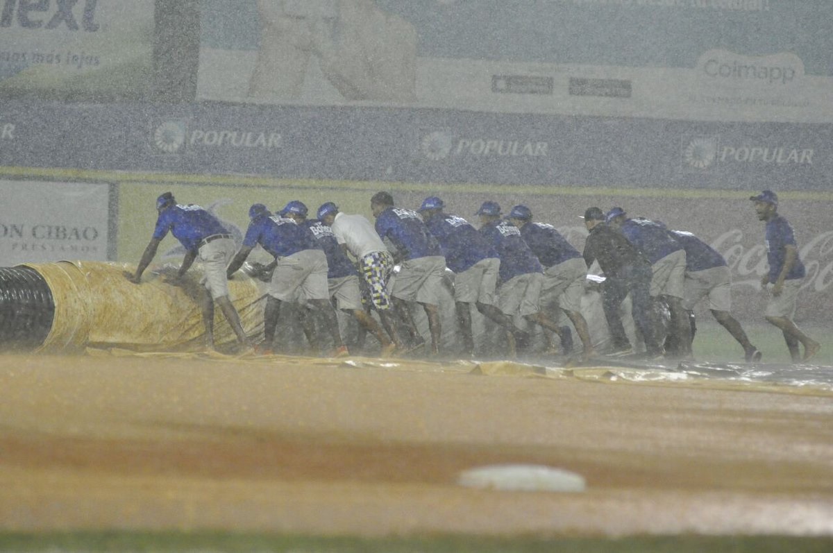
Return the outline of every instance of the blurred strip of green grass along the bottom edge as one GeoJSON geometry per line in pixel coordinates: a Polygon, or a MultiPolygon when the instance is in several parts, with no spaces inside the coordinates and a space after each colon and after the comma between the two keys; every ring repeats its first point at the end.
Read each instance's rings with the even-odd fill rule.
{"type": "Polygon", "coordinates": [[[78,532],[0,534],[0,551],[286,551],[287,553],[784,553],[833,551],[833,537],[637,536],[621,539],[432,536],[377,538],[236,533],[78,532]]]}

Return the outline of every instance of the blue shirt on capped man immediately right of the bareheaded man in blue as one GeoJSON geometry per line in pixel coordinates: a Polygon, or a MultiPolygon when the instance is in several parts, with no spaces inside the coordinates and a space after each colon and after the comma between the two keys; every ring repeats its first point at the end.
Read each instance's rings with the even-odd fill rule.
{"type": "Polygon", "coordinates": [[[453,213],[437,213],[426,221],[426,227],[440,242],[446,267],[463,272],[476,262],[497,257],[496,249],[466,219],[453,213]]]}

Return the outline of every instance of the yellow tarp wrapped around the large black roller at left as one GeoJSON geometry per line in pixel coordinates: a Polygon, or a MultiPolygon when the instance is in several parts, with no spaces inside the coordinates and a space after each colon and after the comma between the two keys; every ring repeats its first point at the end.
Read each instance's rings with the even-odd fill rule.
{"type": "MultiPolygon", "coordinates": [[[[124,276],[135,267],[108,262],[31,263],[47,281],[55,301],[52,330],[38,351],[82,351],[87,346],[122,347],[134,351],[196,351],[205,339],[199,292],[202,268],[195,265],[181,286],[164,274],[145,272],[142,284],[124,276]]],[[[238,272],[229,281],[232,303],[249,336],[262,332],[265,288],[261,281],[238,272]]],[[[219,307],[214,310],[217,346],[236,336],[219,307]]]]}

